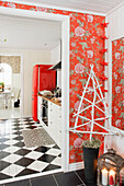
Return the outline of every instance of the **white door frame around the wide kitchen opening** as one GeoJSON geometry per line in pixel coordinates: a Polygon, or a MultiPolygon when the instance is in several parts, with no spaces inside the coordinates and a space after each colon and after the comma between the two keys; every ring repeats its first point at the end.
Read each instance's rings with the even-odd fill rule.
{"type": "MultiPolygon", "coordinates": [[[[61,22],[61,170],[69,171],[69,15],[0,7],[0,14],[61,22]]],[[[53,171],[54,172],[54,171],[53,171]]],[[[41,174],[41,173],[40,173],[41,174]]],[[[38,174],[38,176],[40,176],[38,174]]],[[[43,174],[41,174],[43,175],[43,174]]],[[[15,181],[16,178],[13,178],[15,181]]],[[[0,182],[1,183],[1,182],[0,182]]]]}

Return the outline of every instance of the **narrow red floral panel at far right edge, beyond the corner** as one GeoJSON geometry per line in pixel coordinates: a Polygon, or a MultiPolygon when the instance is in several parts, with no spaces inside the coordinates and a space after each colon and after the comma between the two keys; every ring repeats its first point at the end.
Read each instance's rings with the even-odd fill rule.
{"type": "Polygon", "coordinates": [[[112,42],[112,125],[124,130],[124,37],[112,42]]]}

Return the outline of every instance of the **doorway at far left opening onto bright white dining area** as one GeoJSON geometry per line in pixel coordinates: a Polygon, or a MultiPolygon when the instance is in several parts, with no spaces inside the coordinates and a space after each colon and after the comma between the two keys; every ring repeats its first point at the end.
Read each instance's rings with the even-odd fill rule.
{"type": "Polygon", "coordinates": [[[21,117],[22,57],[0,54],[0,119],[21,117]]]}

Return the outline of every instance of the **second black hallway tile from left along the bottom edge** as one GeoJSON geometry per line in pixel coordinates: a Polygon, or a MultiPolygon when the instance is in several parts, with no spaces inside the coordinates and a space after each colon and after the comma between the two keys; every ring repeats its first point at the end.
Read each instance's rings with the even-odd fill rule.
{"type": "Polygon", "coordinates": [[[32,186],[57,186],[53,176],[38,177],[31,179],[32,186]]]}

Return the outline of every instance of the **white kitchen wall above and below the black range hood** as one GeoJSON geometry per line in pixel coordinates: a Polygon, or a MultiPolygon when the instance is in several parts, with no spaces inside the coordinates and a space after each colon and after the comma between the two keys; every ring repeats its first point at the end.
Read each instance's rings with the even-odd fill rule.
{"type": "MultiPolygon", "coordinates": [[[[61,59],[60,59],[60,46],[54,48],[52,51],[52,59],[50,62],[52,63],[58,63],[61,59]]],[[[57,86],[61,88],[61,70],[57,71],[57,86]]]]}

